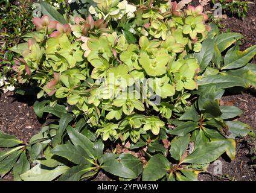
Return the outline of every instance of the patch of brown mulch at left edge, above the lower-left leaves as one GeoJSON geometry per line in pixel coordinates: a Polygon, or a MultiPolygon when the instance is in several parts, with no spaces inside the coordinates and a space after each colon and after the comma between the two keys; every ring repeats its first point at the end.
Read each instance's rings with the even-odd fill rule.
{"type": "MultiPolygon", "coordinates": [[[[24,143],[41,129],[40,122],[33,110],[34,101],[28,96],[16,97],[12,92],[0,93],[0,130],[13,134],[24,143]]],[[[0,180],[13,180],[8,173],[0,180]]]]}

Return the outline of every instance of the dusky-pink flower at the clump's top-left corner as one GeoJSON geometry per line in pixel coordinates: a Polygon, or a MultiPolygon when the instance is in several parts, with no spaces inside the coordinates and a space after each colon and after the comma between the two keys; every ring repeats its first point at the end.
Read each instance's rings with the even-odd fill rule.
{"type": "Polygon", "coordinates": [[[48,28],[49,31],[55,30],[56,24],[58,23],[57,21],[51,21],[50,17],[47,15],[42,16],[41,18],[34,17],[32,22],[36,26],[37,31],[43,28],[48,28]]]}

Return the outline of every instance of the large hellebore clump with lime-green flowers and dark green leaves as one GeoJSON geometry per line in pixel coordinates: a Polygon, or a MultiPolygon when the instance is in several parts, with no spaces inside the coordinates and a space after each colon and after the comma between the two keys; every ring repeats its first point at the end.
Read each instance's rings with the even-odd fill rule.
{"type": "Polygon", "coordinates": [[[21,83],[40,87],[37,116],[59,118],[31,138],[40,164],[21,179],[81,180],[103,169],[120,180],[197,180],[223,153],[234,159],[234,139],[251,128],[219,101],[227,88],[255,87],[256,47],[239,51],[242,36],[206,25],[200,6],[150,1],[127,6],[136,8],[128,17],[126,1],[94,2],[94,16],[72,24],[37,18],[47,25],[13,48],[21,83]]]}

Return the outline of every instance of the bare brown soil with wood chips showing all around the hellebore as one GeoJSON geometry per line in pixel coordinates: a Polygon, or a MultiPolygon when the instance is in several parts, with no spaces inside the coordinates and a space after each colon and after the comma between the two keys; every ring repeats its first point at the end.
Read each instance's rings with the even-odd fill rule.
{"type": "MultiPolygon", "coordinates": [[[[237,19],[234,16],[227,16],[220,21],[221,31],[231,31],[242,33],[245,38],[242,40],[240,48],[242,50],[256,44],[256,0],[251,0],[254,4],[249,4],[248,14],[245,19],[237,19]]],[[[193,0],[192,5],[199,5],[198,0],[193,0]]],[[[205,6],[205,10],[211,10],[210,5],[205,6]]],[[[256,57],[252,60],[256,63],[256,57]]],[[[43,122],[37,119],[33,110],[33,98],[28,96],[15,96],[12,92],[0,93],[0,130],[8,134],[14,134],[18,139],[28,142],[34,134],[38,133],[43,122]]],[[[255,92],[243,92],[236,95],[226,95],[222,98],[222,103],[237,106],[243,110],[243,115],[238,118],[239,121],[251,125],[256,131],[256,95],[255,92]]],[[[208,172],[199,174],[199,180],[246,180],[255,181],[255,163],[252,163],[251,157],[255,156],[252,150],[255,150],[255,138],[246,136],[243,139],[237,139],[237,154],[234,160],[229,160],[223,155],[217,162],[211,163],[208,172]],[[222,174],[213,175],[216,163],[222,164],[222,174]]],[[[1,150],[1,149],[0,149],[1,150]]],[[[111,176],[99,172],[92,180],[113,179],[111,176]]],[[[11,172],[0,180],[13,180],[11,172]]]]}

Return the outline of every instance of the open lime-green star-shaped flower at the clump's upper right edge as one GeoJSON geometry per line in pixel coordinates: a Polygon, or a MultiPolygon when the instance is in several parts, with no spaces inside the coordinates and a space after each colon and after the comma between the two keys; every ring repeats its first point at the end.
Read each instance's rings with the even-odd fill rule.
{"type": "Polygon", "coordinates": [[[185,25],[182,29],[184,34],[190,34],[191,39],[196,39],[197,33],[203,33],[206,30],[203,24],[203,16],[188,16],[185,19],[185,25]]]}

